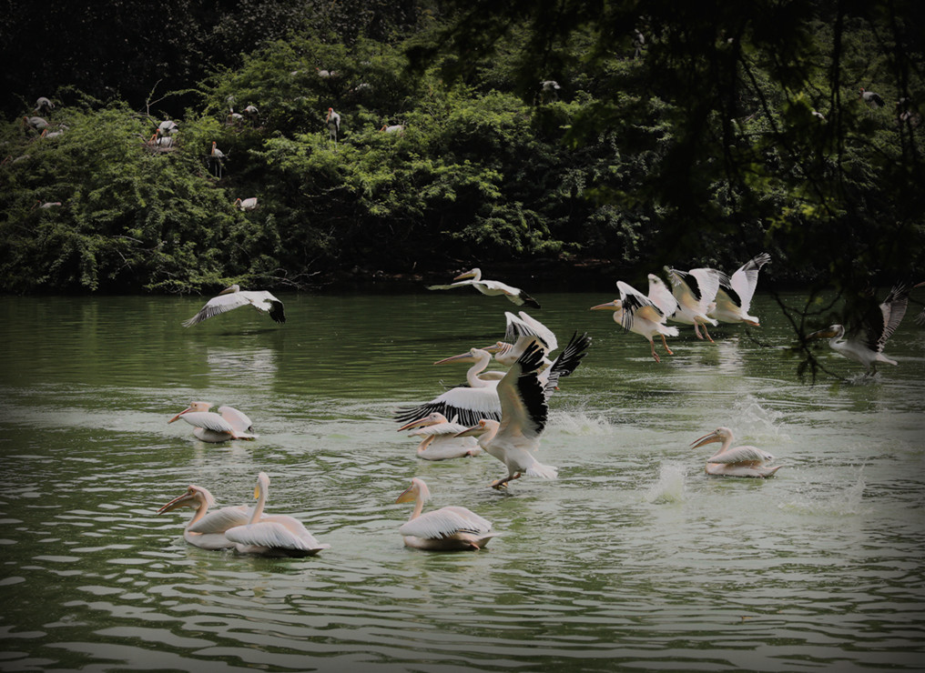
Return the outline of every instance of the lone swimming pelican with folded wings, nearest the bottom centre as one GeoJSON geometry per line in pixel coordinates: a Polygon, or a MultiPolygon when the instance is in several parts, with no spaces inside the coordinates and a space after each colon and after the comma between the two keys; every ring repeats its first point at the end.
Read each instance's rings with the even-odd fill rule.
{"type": "Polygon", "coordinates": [[[477,550],[498,534],[491,532],[490,521],[466,508],[446,507],[422,514],[429,497],[427,484],[414,477],[411,486],[395,501],[396,504],[414,501],[411,519],[399,528],[405,546],[428,551],[477,550]]]}

